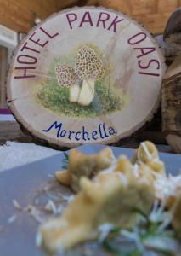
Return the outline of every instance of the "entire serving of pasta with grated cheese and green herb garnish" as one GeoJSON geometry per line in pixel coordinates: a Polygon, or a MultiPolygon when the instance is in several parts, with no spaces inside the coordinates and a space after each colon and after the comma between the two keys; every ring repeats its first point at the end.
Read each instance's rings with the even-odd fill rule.
{"type": "Polygon", "coordinates": [[[56,172],[56,178],[77,194],[59,217],[39,227],[40,244],[49,252],[96,239],[118,252],[112,239],[126,236],[134,241],[135,249],[129,254],[121,250],[122,255],[144,255],[143,248],[176,255],[181,175],[167,177],[153,143],[141,143],[132,161],[125,155],[115,159],[110,148],[89,155],[72,149],[67,170],[56,172]],[[99,234],[100,230],[105,231],[99,234]]]}

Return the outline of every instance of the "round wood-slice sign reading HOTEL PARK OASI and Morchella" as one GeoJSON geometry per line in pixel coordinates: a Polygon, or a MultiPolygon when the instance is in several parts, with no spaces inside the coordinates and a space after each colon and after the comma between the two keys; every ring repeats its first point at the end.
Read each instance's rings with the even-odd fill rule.
{"type": "Polygon", "coordinates": [[[164,63],[155,40],[122,13],[65,9],[14,52],[8,106],[50,145],[113,143],[151,119],[164,63]]]}

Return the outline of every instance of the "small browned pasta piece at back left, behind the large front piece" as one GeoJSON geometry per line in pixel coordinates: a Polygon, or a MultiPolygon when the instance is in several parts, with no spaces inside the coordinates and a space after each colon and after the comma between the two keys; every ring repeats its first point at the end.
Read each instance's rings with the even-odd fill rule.
{"type": "Polygon", "coordinates": [[[59,183],[70,186],[74,192],[80,190],[80,177],[93,177],[98,172],[110,167],[115,157],[110,148],[101,150],[98,154],[83,154],[81,151],[71,149],[67,170],[55,173],[59,183]]]}

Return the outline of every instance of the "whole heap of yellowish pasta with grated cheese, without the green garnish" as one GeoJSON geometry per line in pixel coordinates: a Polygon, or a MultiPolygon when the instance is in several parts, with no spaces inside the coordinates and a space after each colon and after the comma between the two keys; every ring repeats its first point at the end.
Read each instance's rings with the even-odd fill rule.
{"type": "Polygon", "coordinates": [[[136,222],[133,208],[148,213],[154,201],[167,205],[173,225],[181,230],[181,175],[166,176],[153,143],[141,143],[132,161],[125,155],[115,160],[110,148],[90,155],[72,149],[68,169],[56,172],[55,177],[78,193],[62,216],[39,228],[42,245],[51,253],[96,238],[100,224],[132,227],[136,222]]]}

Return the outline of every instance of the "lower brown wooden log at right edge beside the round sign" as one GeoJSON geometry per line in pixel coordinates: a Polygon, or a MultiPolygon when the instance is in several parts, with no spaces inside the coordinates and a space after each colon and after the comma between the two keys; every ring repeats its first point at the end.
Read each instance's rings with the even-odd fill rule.
{"type": "Polygon", "coordinates": [[[167,69],[162,85],[162,130],[175,152],[181,153],[181,55],[167,69]]]}

